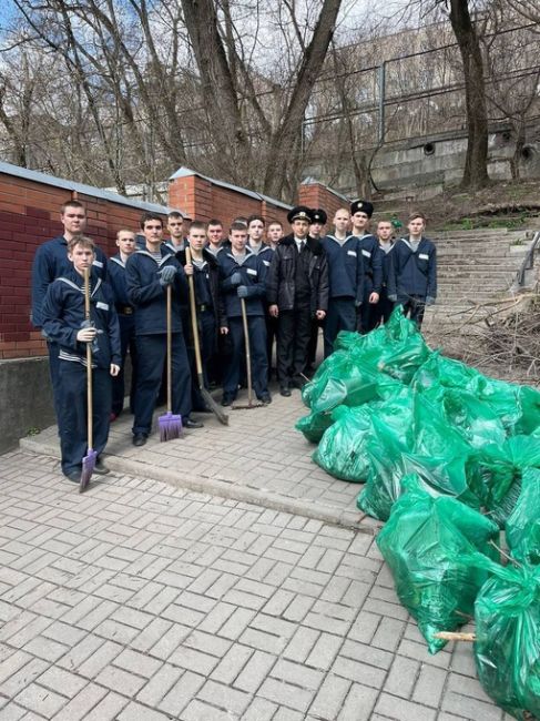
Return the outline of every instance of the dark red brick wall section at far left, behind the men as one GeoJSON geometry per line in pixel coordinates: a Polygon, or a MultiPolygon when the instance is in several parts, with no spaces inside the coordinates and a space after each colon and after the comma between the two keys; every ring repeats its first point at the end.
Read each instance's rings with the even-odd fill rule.
{"type": "MultiPolygon", "coordinates": [[[[0,358],[45,355],[41,333],[30,324],[30,278],[38,245],[62,232],[60,205],[71,191],[0,174],[0,358]]],[[[108,254],[121,227],[136,231],[140,207],[78,195],[86,205],[88,234],[108,254]]]]}

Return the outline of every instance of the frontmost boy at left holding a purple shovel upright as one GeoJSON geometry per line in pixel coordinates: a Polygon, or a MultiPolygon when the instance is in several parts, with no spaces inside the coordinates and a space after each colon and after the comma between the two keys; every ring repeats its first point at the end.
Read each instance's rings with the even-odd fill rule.
{"type": "Polygon", "coordinates": [[[92,344],[94,471],[109,473],[100,454],[109,437],[111,376],[120,370],[120,328],[111,288],[92,267],[94,243],[78,235],[68,243],[71,265],[53,281],[41,305],[43,331],[59,348],[59,383],[54,389],[62,473],[79,483],[88,451],[86,344],[92,344]],[[85,319],[84,271],[90,275],[90,323],[85,319]]]}

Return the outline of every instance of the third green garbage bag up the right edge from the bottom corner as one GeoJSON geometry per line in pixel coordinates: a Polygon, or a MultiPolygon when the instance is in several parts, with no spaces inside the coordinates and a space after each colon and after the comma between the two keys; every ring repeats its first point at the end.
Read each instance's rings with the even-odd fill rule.
{"type": "Polygon", "coordinates": [[[540,468],[540,438],[511,436],[501,445],[485,446],[479,450],[479,464],[482,483],[475,490],[502,527],[518,502],[523,471],[540,468]]]}

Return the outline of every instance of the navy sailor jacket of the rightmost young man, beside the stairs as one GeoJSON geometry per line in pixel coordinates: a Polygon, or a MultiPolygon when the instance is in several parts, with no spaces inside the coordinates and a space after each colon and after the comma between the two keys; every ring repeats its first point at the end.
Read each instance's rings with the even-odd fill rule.
{"type": "Polygon", "coordinates": [[[406,303],[411,295],[437,297],[437,251],[434,243],[421,237],[416,253],[408,237],[394,244],[388,257],[388,297],[406,303]]]}

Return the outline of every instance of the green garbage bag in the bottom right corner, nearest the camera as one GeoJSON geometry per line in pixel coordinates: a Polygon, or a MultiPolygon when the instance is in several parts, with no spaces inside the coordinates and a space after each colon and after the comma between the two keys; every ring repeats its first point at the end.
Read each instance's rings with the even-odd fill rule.
{"type": "Polygon", "coordinates": [[[475,661],[483,690],[516,719],[540,719],[540,566],[502,567],[475,555],[492,575],[475,603],[475,661]]]}

